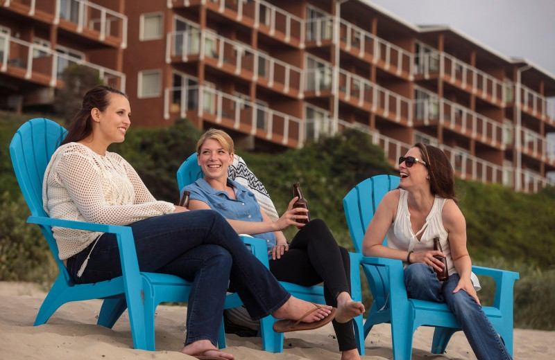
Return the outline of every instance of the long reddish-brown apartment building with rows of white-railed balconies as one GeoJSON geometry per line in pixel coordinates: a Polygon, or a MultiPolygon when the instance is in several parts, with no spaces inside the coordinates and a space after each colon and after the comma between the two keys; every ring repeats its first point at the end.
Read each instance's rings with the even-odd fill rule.
{"type": "MultiPolygon", "coordinates": [[[[49,42],[49,84],[57,59],[73,56],[58,48],[74,46],[125,87],[134,125],[186,117],[264,150],[355,127],[391,163],[425,141],[441,147],[463,179],[527,192],[555,183],[555,75],[370,1],[1,1],[0,24],[15,14],[21,30],[1,30],[0,45],[17,39],[9,41],[34,54],[35,37],[49,42]]],[[[2,64],[0,80],[14,67],[2,64]]],[[[40,87],[25,64],[17,81],[40,87]]]]}

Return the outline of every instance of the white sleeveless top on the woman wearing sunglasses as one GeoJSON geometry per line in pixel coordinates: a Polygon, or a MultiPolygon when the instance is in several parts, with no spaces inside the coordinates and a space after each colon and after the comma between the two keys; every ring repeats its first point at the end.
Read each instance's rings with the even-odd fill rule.
{"type": "MultiPolygon", "coordinates": [[[[389,227],[387,232],[387,246],[391,249],[402,251],[428,251],[434,249],[434,237],[439,237],[441,249],[445,253],[447,259],[447,271],[449,275],[456,273],[453,258],[451,256],[451,247],[447,238],[447,231],[443,227],[442,211],[447,199],[438,197],[434,199],[432,210],[426,217],[426,222],[417,233],[412,231],[411,214],[409,213],[409,205],[407,204],[407,190],[400,189],[401,196],[397,207],[397,215],[395,221],[389,227]],[[417,236],[422,233],[420,241],[417,236]]],[[[408,263],[403,262],[403,266],[407,267],[408,263]]],[[[475,273],[470,274],[470,280],[476,291],[481,289],[480,282],[475,273]]]]}

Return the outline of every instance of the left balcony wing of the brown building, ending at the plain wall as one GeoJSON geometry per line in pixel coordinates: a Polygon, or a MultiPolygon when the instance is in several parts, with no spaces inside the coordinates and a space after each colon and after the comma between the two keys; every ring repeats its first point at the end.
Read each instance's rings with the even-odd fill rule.
{"type": "Polygon", "coordinates": [[[0,0],[0,109],[51,107],[62,73],[81,64],[125,90],[124,0],[0,0]]]}

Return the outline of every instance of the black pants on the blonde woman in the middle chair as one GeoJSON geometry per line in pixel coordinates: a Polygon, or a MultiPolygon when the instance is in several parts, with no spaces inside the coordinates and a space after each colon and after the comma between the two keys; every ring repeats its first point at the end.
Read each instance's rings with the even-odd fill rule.
{"type": "MultiPolygon", "coordinates": [[[[314,219],[293,237],[289,251],[281,259],[270,260],[270,271],[280,281],[302,286],[324,282],[327,305],[337,307],[337,296],[350,294],[350,258],[348,251],[339,246],[323,220],[314,219]]],[[[339,350],[357,348],[352,320],[347,323],[332,321],[339,350]]]]}

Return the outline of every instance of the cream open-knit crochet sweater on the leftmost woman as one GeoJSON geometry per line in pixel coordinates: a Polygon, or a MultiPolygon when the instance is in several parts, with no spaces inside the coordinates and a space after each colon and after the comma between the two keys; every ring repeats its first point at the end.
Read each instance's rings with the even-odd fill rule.
{"type": "MultiPolygon", "coordinates": [[[[128,225],[173,213],[175,206],[156,201],[135,169],[121,156],[101,156],[80,143],[58,147],[44,172],[42,204],[56,219],[128,225]]],[[[60,260],[83,251],[102,233],[52,228],[60,260]]]]}

